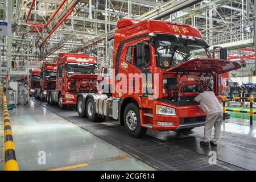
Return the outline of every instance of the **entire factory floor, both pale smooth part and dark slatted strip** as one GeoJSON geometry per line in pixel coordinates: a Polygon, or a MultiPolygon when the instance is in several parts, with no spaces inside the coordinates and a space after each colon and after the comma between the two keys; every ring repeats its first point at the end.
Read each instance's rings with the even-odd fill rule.
{"type": "Polygon", "coordinates": [[[249,126],[245,119],[226,120],[218,147],[201,147],[203,127],[183,133],[148,130],[137,139],[117,121],[89,122],[72,108],[46,102],[30,101],[9,114],[20,170],[256,169],[256,123],[249,126]],[[44,154],[46,164],[40,164],[44,154]]]}

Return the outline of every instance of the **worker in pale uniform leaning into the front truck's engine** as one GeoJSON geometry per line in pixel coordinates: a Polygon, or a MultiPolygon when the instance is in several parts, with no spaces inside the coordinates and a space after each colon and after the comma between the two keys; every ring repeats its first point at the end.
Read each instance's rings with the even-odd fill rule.
{"type": "Polygon", "coordinates": [[[195,97],[195,101],[200,103],[201,109],[207,114],[204,126],[204,141],[200,144],[204,146],[217,146],[220,137],[222,124],[222,108],[215,94],[211,91],[200,90],[200,94],[195,97]],[[212,128],[214,126],[214,138],[211,140],[212,128]]]}

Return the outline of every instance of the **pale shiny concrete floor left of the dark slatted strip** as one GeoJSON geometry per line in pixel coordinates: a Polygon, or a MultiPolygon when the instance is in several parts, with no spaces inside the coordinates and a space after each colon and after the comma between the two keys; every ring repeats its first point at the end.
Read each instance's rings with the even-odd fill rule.
{"type": "Polygon", "coordinates": [[[155,170],[45,107],[18,106],[9,115],[20,170],[155,170]]]}

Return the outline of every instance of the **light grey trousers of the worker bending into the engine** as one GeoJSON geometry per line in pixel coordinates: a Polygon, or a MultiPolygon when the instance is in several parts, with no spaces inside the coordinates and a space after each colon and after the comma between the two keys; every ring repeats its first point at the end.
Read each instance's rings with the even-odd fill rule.
{"type": "Polygon", "coordinates": [[[220,138],[222,117],[222,112],[207,115],[204,125],[204,142],[210,142],[212,128],[214,126],[214,138],[212,139],[212,142],[216,144],[218,143],[218,138],[220,138]]]}

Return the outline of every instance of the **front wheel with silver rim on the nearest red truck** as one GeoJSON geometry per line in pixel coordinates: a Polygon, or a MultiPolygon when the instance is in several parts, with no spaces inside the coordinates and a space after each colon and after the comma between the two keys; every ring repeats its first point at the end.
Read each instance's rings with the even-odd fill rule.
{"type": "Polygon", "coordinates": [[[125,107],[123,121],[127,133],[132,137],[142,137],[147,131],[145,127],[141,127],[139,107],[135,103],[130,103],[125,107]]]}

